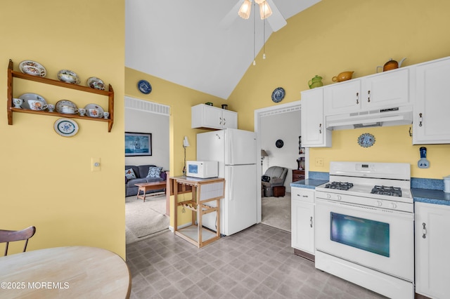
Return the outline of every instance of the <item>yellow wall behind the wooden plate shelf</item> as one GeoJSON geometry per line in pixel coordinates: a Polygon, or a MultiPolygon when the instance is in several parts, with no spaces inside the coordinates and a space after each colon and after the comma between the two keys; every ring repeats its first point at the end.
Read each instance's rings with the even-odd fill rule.
{"type": "MultiPolygon", "coordinates": [[[[125,257],[124,0],[6,1],[0,10],[0,228],[37,227],[29,250],[84,245],[125,257]],[[6,4],[7,2],[7,4],[6,4]],[[53,131],[60,117],[6,114],[8,60],[44,65],[47,78],[77,72],[82,85],[99,77],[115,91],[115,124],[76,119],[79,132],[53,131]],[[101,171],[91,172],[91,157],[101,171]]],[[[14,79],[13,95],[38,93],[47,102],[72,100],[108,108],[108,98],[14,79]]],[[[13,253],[18,248],[11,248],[13,253]]]]}

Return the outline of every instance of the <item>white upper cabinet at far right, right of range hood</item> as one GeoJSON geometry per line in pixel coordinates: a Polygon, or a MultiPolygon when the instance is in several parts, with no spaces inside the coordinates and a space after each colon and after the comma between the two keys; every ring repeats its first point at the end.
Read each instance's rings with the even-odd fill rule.
{"type": "Polygon", "coordinates": [[[450,58],[415,69],[413,144],[450,143],[450,58]]]}

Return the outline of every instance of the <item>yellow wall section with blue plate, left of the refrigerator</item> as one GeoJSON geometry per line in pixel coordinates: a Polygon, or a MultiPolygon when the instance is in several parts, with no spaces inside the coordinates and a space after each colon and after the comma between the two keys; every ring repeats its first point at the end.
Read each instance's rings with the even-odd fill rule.
{"type": "MultiPolygon", "coordinates": [[[[186,160],[195,160],[196,134],[205,132],[205,130],[191,129],[191,107],[205,102],[213,102],[215,107],[221,107],[221,104],[226,102],[221,98],[201,93],[200,91],[195,91],[191,88],[186,88],[128,67],[125,68],[125,94],[132,98],[139,98],[141,100],[170,106],[169,171],[171,176],[183,175],[184,136],[188,136],[191,145],[186,147],[186,160]],[[136,87],[138,81],[142,79],[149,81],[152,85],[152,92],[148,95],[144,95],[136,87]]],[[[230,107],[230,109],[233,109],[233,107],[230,107]]],[[[153,129],[157,130],[158,128],[153,129]]],[[[186,199],[191,199],[191,194],[185,194],[184,196],[186,199]]],[[[179,201],[183,199],[184,197],[179,197],[179,201]]],[[[170,211],[170,214],[173,215],[173,205],[171,205],[170,211]]],[[[180,212],[178,219],[179,225],[191,221],[190,216],[191,213],[183,214],[180,212]]],[[[174,225],[173,218],[170,219],[170,225],[172,227],[174,225]]]]}

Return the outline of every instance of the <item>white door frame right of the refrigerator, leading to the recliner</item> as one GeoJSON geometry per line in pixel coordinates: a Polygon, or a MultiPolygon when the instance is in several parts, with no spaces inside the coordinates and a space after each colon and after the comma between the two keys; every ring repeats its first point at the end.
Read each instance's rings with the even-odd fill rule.
{"type": "MultiPolygon", "coordinates": [[[[266,107],[266,108],[262,108],[262,109],[256,109],[255,110],[255,133],[257,135],[257,152],[256,152],[256,157],[258,158],[257,161],[261,161],[261,130],[259,130],[259,128],[261,128],[261,117],[263,115],[266,114],[278,114],[278,113],[283,113],[283,112],[290,112],[293,110],[297,110],[297,109],[301,109],[302,104],[300,103],[300,100],[297,100],[295,102],[287,102],[285,104],[281,104],[281,105],[276,105],[276,106],[271,106],[271,107],[266,107]]],[[[305,178],[307,178],[308,175],[308,154],[309,154],[309,149],[306,149],[306,153],[305,153],[305,160],[306,160],[306,165],[305,165],[305,178]]],[[[257,175],[258,175],[258,182],[261,181],[261,176],[262,176],[262,172],[261,172],[261,168],[257,167],[257,175]]],[[[257,188],[257,223],[261,222],[262,220],[262,201],[261,201],[261,188],[257,188]]]]}

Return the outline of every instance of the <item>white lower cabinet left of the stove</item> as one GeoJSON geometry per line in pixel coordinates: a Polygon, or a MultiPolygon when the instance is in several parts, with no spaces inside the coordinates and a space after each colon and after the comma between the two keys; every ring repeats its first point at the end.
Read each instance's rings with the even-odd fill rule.
{"type": "Polygon", "coordinates": [[[291,189],[291,242],[295,249],[314,255],[314,194],[307,188],[291,189]]]}

